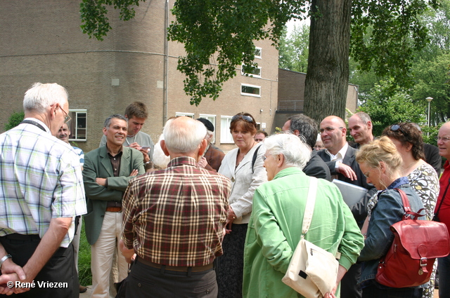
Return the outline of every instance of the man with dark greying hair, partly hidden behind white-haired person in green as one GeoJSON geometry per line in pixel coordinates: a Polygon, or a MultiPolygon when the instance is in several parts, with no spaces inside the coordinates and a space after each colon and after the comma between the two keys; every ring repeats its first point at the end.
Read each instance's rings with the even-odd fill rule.
{"type": "Polygon", "coordinates": [[[311,149],[311,159],[303,168],[303,172],[311,177],[322,178],[331,181],[328,165],[317,155],[316,150],[312,150],[317,140],[317,123],[304,114],[290,116],[284,123],[283,131],[289,131],[303,139],[311,149]]]}

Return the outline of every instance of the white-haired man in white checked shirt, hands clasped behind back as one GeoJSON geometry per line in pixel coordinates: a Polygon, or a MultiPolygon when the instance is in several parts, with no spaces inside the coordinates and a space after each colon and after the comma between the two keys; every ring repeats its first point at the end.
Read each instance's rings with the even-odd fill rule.
{"type": "Polygon", "coordinates": [[[70,121],[68,93],[35,83],[23,108],[25,120],[0,135],[0,294],[78,297],[72,239],[75,217],[86,213],[82,166],[53,136],[70,121]]]}

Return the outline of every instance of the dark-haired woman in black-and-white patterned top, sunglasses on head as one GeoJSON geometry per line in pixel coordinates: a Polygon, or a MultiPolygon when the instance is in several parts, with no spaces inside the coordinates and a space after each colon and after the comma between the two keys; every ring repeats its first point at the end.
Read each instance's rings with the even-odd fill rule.
{"type": "MultiPolygon", "coordinates": [[[[397,123],[383,130],[383,135],[390,138],[401,155],[403,165],[401,174],[408,177],[409,184],[416,191],[431,220],[439,195],[439,178],[436,170],[424,161],[423,139],[420,130],[413,123],[397,123]]],[[[369,202],[371,208],[373,202],[369,202]]],[[[435,292],[435,274],[437,263],[433,267],[430,283],[423,289],[423,298],[431,298],[435,292]]]]}

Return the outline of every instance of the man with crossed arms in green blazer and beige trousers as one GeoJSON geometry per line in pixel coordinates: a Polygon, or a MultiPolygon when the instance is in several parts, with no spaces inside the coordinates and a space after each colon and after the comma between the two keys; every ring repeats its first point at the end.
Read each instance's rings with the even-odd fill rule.
{"type": "MultiPolygon", "coordinates": [[[[129,180],[144,172],[141,152],[123,146],[127,126],[127,118],[122,115],[108,117],[103,128],[106,145],[84,156],[83,180],[88,212],[84,224],[91,245],[92,293],[95,297],[109,297],[113,254],[122,233],[122,196],[129,180]]],[[[117,263],[122,280],[127,277],[127,262],[120,255],[117,263]]]]}

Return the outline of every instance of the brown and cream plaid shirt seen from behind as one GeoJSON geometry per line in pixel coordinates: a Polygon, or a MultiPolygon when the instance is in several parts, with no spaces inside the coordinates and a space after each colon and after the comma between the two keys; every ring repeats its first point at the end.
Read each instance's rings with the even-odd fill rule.
{"type": "Polygon", "coordinates": [[[210,264],[222,255],[230,189],[228,178],[187,156],[136,177],[122,202],[125,246],[158,264],[210,264]]]}

